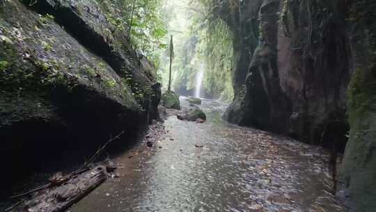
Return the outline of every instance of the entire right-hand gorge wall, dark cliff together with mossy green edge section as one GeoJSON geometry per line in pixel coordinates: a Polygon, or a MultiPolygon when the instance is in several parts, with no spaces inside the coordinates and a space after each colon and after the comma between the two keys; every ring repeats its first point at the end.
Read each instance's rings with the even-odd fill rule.
{"type": "MultiPolygon", "coordinates": [[[[239,63],[246,68],[246,89],[237,93],[224,119],[339,151],[350,123],[342,176],[359,211],[372,211],[374,1],[260,2],[248,13],[258,15],[258,46],[247,54],[248,66],[239,63]]],[[[244,31],[238,33],[246,39],[244,31]]],[[[235,79],[239,74],[235,71],[235,79]]]]}

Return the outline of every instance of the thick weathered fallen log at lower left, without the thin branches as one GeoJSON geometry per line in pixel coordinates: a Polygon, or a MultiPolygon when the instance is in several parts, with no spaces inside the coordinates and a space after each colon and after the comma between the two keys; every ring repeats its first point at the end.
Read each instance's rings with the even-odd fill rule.
{"type": "Polygon", "coordinates": [[[106,167],[97,166],[73,176],[61,185],[40,190],[25,202],[22,211],[62,212],[107,179],[106,167]]]}

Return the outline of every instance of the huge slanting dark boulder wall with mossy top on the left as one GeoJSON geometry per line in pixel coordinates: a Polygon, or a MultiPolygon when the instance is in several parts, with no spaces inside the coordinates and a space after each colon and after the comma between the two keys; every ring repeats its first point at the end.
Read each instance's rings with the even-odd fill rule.
{"type": "Polygon", "coordinates": [[[155,68],[130,47],[126,33],[111,32],[104,5],[69,2],[0,2],[5,158],[25,148],[35,151],[29,158],[70,144],[97,148],[121,131],[126,141],[157,119],[155,68]]]}

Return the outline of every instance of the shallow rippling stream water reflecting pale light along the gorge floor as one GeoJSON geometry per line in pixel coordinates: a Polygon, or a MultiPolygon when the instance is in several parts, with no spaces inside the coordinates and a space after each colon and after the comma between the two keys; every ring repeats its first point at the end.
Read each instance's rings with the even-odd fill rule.
{"type": "Polygon", "coordinates": [[[215,101],[202,108],[207,123],[171,116],[168,138],[117,158],[120,178],[70,211],[345,211],[330,193],[327,151],[225,123],[215,101]]]}

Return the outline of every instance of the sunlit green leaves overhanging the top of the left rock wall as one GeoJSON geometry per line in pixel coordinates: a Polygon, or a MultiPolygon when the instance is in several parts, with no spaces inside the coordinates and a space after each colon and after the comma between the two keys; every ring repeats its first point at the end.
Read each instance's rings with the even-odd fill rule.
{"type": "Polygon", "coordinates": [[[103,0],[107,8],[107,20],[116,31],[127,33],[135,49],[150,56],[160,48],[166,48],[162,38],[166,36],[166,23],[160,13],[162,0],[103,0]],[[113,11],[121,11],[114,14],[113,11]]]}

